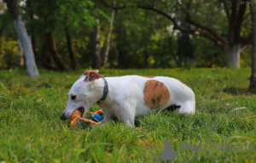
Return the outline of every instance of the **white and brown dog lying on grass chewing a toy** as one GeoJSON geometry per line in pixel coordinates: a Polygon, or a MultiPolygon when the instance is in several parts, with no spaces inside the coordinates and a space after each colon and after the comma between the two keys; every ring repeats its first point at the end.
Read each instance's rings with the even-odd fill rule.
{"type": "Polygon", "coordinates": [[[177,106],[179,113],[195,114],[195,93],[183,82],[165,76],[106,77],[98,70],[86,70],[68,93],[66,110],[61,120],[67,120],[74,110],[82,110],[83,117],[90,107],[102,104],[104,120],[119,117],[134,126],[135,118],[151,111],[177,106]]]}

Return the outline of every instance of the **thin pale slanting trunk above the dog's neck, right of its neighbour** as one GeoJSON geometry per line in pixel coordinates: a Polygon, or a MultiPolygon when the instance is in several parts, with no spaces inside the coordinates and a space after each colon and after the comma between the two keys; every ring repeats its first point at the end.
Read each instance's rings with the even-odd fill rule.
{"type": "MultiPolygon", "coordinates": [[[[115,1],[113,1],[113,8],[115,7],[115,1]]],[[[111,37],[111,32],[112,32],[112,28],[113,28],[113,19],[114,19],[114,14],[115,14],[115,10],[112,9],[111,12],[111,19],[109,22],[109,27],[108,27],[108,33],[106,36],[106,40],[104,42],[104,47],[103,47],[103,52],[102,52],[102,58],[103,58],[103,63],[102,63],[102,67],[105,67],[107,62],[108,62],[108,53],[109,53],[109,47],[110,47],[110,37],[111,37]]]]}

